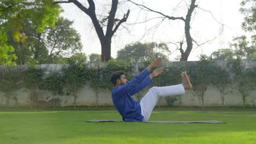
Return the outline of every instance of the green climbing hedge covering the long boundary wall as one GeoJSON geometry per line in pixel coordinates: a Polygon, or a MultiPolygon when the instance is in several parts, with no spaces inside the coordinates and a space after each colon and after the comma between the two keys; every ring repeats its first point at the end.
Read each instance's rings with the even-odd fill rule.
{"type": "MultiPolygon", "coordinates": [[[[147,67],[149,62],[145,62],[147,67]]],[[[205,92],[209,85],[213,85],[220,92],[220,99],[224,105],[225,97],[229,91],[236,89],[241,93],[243,105],[246,107],[246,97],[249,92],[256,87],[255,68],[245,68],[240,61],[230,61],[226,67],[219,67],[213,61],[200,62],[168,62],[162,65],[165,71],[154,78],[152,86],[168,86],[181,83],[181,71],[188,71],[191,83],[193,83],[193,94],[200,101],[201,106],[204,106],[205,92]]],[[[1,67],[0,71],[0,91],[8,99],[13,95],[12,92],[18,88],[25,87],[30,89],[31,109],[38,105],[38,95],[36,89],[45,89],[51,91],[56,97],[60,95],[71,95],[74,98],[74,107],[76,105],[78,89],[83,85],[89,85],[95,90],[96,106],[98,92],[101,89],[111,89],[110,75],[117,70],[126,72],[127,79],[131,80],[133,71],[133,63],[131,59],[127,61],[102,62],[94,67],[89,67],[89,64],[69,63],[67,67],[47,74],[43,69],[38,67],[27,67],[18,69],[19,67],[1,67]]],[[[143,68],[139,69],[142,70],[143,68]]],[[[137,71],[138,72],[138,71],[137,71]]],[[[138,97],[142,95],[138,94],[138,97]]],[[[167,97],[166,101],[169,106],[180,97],[167,97]]],[[[53,107],[55,102],[53,101],[53,107]]]]}

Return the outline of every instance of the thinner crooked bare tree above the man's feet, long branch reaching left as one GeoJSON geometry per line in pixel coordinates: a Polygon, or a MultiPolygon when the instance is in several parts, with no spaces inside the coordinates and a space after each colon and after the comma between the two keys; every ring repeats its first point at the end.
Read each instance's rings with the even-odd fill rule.
{"type": "MultiPolygon", "coordinates": [[[[133,3],[133,4],[136,4],[138,7],[141,7],[142,9],[146,9],[147,11],[152,11],[152,12],[154,12],[156,14],[164,16],[164,18],[162,18],[162,21],[164,21],[165,19],[181,20],[181,21],[183,21],[184,24],[185,24],[184,30],[185,30],[185,38],[186,38],[186,43],[187,43],[187,49],[185,51],[183,50],[182,46],[183,46],[184,42],[181,41],[179,43],[180,47],[179,47],[178,50],[181,52],[181,61],[188,61],[189,54],[190,54],[191,50],[193,49],[193,41],[194,40],[193,40],[193,38],[190,35],[190,21],[191,21],[192,13],[193,13],[194,9],[197,7],[197,5],[195,4],[196,0],[191,0],[191,3],[190,3],[189,8],[188,8],[188,13],[185,16],[185,18],[182,17],[182,16],[181,17],[169,16],[169,15],[161,13],[160,11],[156,11],[156,10],[150,9],[150,8],[148,8],[148,7],[146,7],[146,6],[142,5],[142,4],[137,4],[137,3],[132,2],[130,0],[128,0],[128,1],[133,3]]],[[[197,45],[199,45],[199,44],[197,44],[197,45]]]]}

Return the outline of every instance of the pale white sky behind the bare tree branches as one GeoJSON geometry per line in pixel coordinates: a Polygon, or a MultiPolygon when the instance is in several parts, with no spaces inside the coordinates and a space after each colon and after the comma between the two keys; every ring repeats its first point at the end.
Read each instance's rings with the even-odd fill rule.
{"type": "MultiPolygon", "coordinates": [[[[190,4],[188,0],[158,0],[157,3],[154,0],[133,1],[144,4],[150,9],[160,11],[166,15],[177,17],[185,17],[188,5],[190,4]]],[[[85,0],[80,2],[85,7],[88,6],[85,0]]],[[[108,14],[110,3],[110,0],[95,0],[96,14],[99,19],[102,19],[102,15],[108,14]]],[[[246,34],[241,29],[244,16],[239,12],[240,3],[241,0],[196,1],[199,8],[194,10],[191,18],[190,33],[200,46],[194,44],[188,61],[197,61],[200,54],[210,56],[212,52],[218,49],[229,47],[233,37],[246,34]]],[[[73,21],[73,28],[81,36],[83,52],[86,55],[91,53],[101,54],[100,41],[92,26],[90,17],[72,3],[61,4],[61,7],[64,10],[61,16],[73,21]]],[[[123,49],[127,44],[137,41],[141,43],[155,41],[157,43],[167,43],[169,50],[172,52],[169,58],[171,61],[175,61],[180,56],[175,44],[185,39],[184,22],[164,20],[158,27],[154,27],[161,19],[153,19],[148,22],[143,21],[160,17],[161,15],[141,10],[130,2],[119,4],[117,17],[121,19],[128,9],[130,9],[130,15],[127,21],[119,27],[117,33],[112,38],[111,56],[116,58],[117,51],[123,49]],[[134,23],[138,24],[135,25],[134,23]]]]}

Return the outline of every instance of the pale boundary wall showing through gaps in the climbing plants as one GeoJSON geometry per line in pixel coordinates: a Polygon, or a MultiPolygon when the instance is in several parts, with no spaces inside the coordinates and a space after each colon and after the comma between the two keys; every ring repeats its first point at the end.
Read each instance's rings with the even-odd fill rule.
{"type": "MultiPolygon", "coordinates": [[[[226,61],[216,61],[218,65],[224,66],[226,61]]],[[[179,63],[179,62],[177,62],[179,63]]],[[[175,64],[177,64],[175,62],[175,64]]],[[[182,63],[182,62],[181,62],[182,63]]],[[[245,60],[242,61],[243,64],[246,65],[247,68],[249,67],[256,67],[256,61],[254,60],[245,60]]],[[[0,68],[3,67],[0,65],[0,68]]],[[[39,65],[40,68],[48,71],[61,69],[63,65],[56,65],[56,64],[42,64],[39,65]]],[[[141,64],[135,64],[135,74],[138,73],[138,67],[142,67],[141,64]]],[[[1,77],[0,77],[1,79],[1,77]]],[[[177,83],[178,84],[178,83],[177,83]]],[[[143,89],[141,92],[142,95],[146,94],[149,87],[143,89]]],[[[39,104],[51,106],[53,95],[48,91],[37,91],[39,95],[39,104]]],[[[27,106],[30,105],[30,92],[25,89],[21,88],[18,91],[13,93],[13,97],[10,99],[10,106],[27,106]]],[[[139,100],[137,95],[134,95],[133,98],[135,100],[139,100]]],[[[3,93],[0,92],[0,106],[6,105],[6,99],[3,96],[3,93]]],[[[56,97],[56,104],[59,106],[72,106],[74,103],[74,98],[68,95],[57,95],[56,97]]],[[[250,93],[249,97],[246,99],[247,103],[250,105],[256,106],[256,91],[250,93]]],[[[225,95],[225,102],[224,106],[243,106],[242,96],[238,91],[233,91],[232,93],[228,93],[225,95]]],[[[174,103],[175,106],[178,106],[180,103],[176,101],[174,103]]],[[[77,98],[77,106],[113,106],[112,99],[111,99],[111,92],[108,89],[101,89],[98,93],[98,98],[96,99],[95,91],[90,88],[89,86],[84,86],[78,91],[78,98],[77,98]],[[96,103],[97,101],[97,103],[96,103]]],[[[166,106],[165,98],[161,98],[158,102],[160,106],[166,106]]],[[[200,100],[193,95],[193,91],[189,90],[186,91],[184,95],[181,96],[181,106],[201,106],[200,100]]],[[[222,106],[222,102],[220,99],[220,93],[217,91],[216,88],[213,86],[208,86],[207,91],[205,93],[205,106],[222,106]]]]}

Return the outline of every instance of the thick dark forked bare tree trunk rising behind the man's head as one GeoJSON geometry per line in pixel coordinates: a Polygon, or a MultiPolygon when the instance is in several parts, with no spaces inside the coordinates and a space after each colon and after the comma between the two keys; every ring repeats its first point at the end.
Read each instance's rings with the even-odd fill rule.
{"type": "Polygon", "coordinates": [[[117,31],[119,26],[125,22],[130,14],[130,10],[124,14],[123,18],[118,19],[115,17],[118,9],[118,0],[112,0],[111,9],[108,16],[104,17],[102,20],[97,18],[96,7],[93,0],[88,0],[89,7],[86,8],[82,3],[77,0],[66,0],[66,1],[55,1],[56,3],[74,3],[77,7],[82,10],[86,15],[88,15],[94,25],[95,31],[98,35],[98,39],[101,43],[101,61],[109,61],[111,59],[111,40],[114,33],[117,31]],[[105,24],[107,22],[107,25],[105,24]],[[114,27],[115,25],[115,27],[114,27]],[[106,33],[104,33],[106,29],[106,33]]]}

